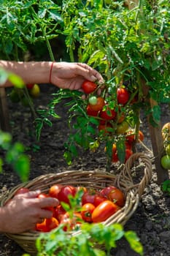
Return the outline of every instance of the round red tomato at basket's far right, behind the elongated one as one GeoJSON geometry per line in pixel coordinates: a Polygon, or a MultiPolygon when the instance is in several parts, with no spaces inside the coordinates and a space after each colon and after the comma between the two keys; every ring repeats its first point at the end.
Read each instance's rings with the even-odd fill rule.
{"type": "Polygon", "coordinates": [[[123,192],[120,189],[112,189],[111,192],[107,195],[108,199],[113,203],[117,204],[117,206],[123,207],[125,204],[125,197],[123,192]]]}

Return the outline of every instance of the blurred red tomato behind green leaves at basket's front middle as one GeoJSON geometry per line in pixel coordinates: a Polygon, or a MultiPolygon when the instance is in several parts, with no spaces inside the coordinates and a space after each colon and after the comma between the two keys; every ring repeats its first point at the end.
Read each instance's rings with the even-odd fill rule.
{"type": "Polygon", "coordinates": [[[76,230],[82,224],[82,215],[80,213],[75,212],[73,217],[69,217],[69,213],[63,214],[61,217],[61,225],[63,225],[64,231],[72,231],[76,230]]]}

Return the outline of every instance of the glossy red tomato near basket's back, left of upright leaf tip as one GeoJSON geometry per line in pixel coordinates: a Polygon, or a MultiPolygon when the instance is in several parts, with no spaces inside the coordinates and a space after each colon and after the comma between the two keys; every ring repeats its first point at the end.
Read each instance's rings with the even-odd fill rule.
{"type": "Polygon", "coordinates": [[[74,195],[76,194],[76,188],[73,186],[63,186],[61,187],[60,192],[58,192],[58,200],[60,202],[68,203],[69,204],[69,195],[74,195]]]}

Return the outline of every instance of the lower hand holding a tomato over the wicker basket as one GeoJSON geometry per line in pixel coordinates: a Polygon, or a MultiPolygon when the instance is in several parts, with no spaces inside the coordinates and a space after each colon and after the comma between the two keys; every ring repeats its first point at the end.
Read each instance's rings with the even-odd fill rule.
{"type": "Polygon", "coordinates": [[[0,232],[22,233],[34,230],[36,223],[50,218],[52,211],[47,207],[58,206],[58,200],[52,197],[37,198],[39,191],[15,195],[12,200],[0,208],[0,232]]]}

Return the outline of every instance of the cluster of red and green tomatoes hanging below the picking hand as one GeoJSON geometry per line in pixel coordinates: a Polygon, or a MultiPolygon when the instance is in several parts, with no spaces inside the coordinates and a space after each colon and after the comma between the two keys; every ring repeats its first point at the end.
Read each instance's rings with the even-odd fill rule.
{"type": "MultiPolygon", "coordinates": [[[[144,134],[139,130],[136,135],[134,129],[129,127],[128,122],[125,120],[124,113],[117,113],[115,109],[109,107],[105,102],[104,97],[94,96],[97,90],[96,83],[85,80],[82,83],[82,90],[88,95],[88,105],[86,108],[88,116],[98,118],[98,130],[108,134],[110,129],[115,129],[116,135],[125,135],[125,162],[133,154],[132,147],[134,143],[144,140],[144,134]],[[137,138],[136,138],[137,137],[137,138]]],[[[130,93],[125,87],[117,89],[117,105],[119,108],[125,106],[130,100],[130,93]]],[[[131,102],[132,103],[132,102],[131,102]]],[[[118,162],[117,146],[112,146],[112,162],[118,162]]]]}

